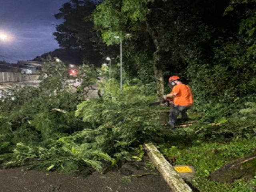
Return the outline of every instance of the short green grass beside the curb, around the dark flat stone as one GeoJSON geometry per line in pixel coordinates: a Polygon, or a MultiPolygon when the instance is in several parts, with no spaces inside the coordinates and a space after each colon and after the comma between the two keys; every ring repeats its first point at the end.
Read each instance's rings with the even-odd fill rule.
{"type": "Polygon", "coordinates": [[[253,192],[253,180],[236,180],[234,183],[221,183],[208,180],[208,176],[227,162],[255,153],[256,137],[222,141],[170,142],[158,145],[166,158],[175,159],[174,164],[192,165],[196,168],[196,178],[192,184],[200,192],[253,192]]]}

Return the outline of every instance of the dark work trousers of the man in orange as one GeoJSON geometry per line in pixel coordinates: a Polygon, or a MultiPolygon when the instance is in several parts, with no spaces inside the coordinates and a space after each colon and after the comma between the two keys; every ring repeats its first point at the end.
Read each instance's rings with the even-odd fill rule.
{"type": "Polygon", "coordinates": [[[176,123],[178,114],[181,114],[181,120],[188,120],[188,115],[186,111],[190,108],[190,106],[179,106],[179,105],[173,105],[170,109],[169,114],[169,124],[174,125],[176,123]]]}

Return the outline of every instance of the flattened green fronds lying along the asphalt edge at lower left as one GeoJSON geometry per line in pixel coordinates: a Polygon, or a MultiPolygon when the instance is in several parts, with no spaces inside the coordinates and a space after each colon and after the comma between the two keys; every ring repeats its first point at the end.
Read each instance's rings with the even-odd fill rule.
{"type": "MultiPolygon", "coordinates": [[[[63,141],[62,141],[63,142],[63,141]]],[[[22,166],[45,170],[63,170],[65,172],[77,172],[80,168],[90,170],[90,167],[99,170],[100,162],[92,156],[102,156],[99,152],[92,154],[83,146],[73,146],[73,143],[65,141],[60,144],[53,143],[47,149],[40,146],[26,146],[19,142],[13,150],[15,161],[6,162],[4,166],[22,166]]],[[[99,158],[98,158],[99,159],[99,158]]]]}

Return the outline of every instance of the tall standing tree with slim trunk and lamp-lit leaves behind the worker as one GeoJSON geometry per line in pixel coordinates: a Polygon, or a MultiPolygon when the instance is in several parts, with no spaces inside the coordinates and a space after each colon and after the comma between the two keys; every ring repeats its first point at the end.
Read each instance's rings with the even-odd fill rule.
{"type": "Polygon", "coordinates": [[[94,11],[94,22],[106,44],[116,43],[116,35],[124,40],[127,33],[137,39],[150,38],[154,46],[149,51],[154,50],[158,91],[162,94],[163,71],[167,68],[185,76],[182,73],[188,58],[210,39],[227,5],[227,0],[105,0],[94,11]]]}

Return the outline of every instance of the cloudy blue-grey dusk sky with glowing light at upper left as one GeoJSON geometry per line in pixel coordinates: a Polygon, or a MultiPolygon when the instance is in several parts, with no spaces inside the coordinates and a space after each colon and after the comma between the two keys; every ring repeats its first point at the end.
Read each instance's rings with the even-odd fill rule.
{"type": "Polygon", "coordinates": [[[69,0],[0,0],[0,61],[31,60],[57,48],[54,14],[69,0]]]}

